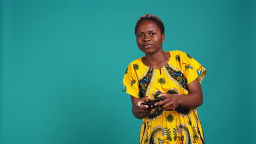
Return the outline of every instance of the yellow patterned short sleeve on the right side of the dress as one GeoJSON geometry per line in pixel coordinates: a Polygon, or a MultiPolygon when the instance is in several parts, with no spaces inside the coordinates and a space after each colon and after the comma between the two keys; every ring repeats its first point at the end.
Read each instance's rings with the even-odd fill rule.
{"type": "Polygon", "coordinates": [[[187,78],[187,85],[196,78],[199,79],[199,82],[201,83],[205,78],[206,69],[187,53],[181,52],[180,55],[182,70],[184,76],[187,78]]]}

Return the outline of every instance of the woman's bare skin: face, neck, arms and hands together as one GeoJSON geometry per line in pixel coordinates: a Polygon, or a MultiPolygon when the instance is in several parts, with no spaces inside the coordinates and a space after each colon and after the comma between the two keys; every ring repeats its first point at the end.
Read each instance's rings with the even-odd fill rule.
{"type": "MultiPolygon", "coordinates": [[[[137,45],[145,53],[142,62],[150,68],[161,69],[168,62],[170,53],[162,50],[162,43],[165,40],[165,34],[154,21],[144,20],[139,23],[136,32],[137,45]]],[[[176,107],[198,107],[202,105],[202,89],[198,79],[188,84],[189,94],[169,94],[160,93],[158,97],[164,97],[155,105],[161,105],[166,111],[173,111],[176,107]]],[[[143,119],[149,115],[150,111],[147,105],[141,105],[144,101],[150,100],[149,97],[138,99],[131,95],[132,113],[138,119],[143,119]]]]}

